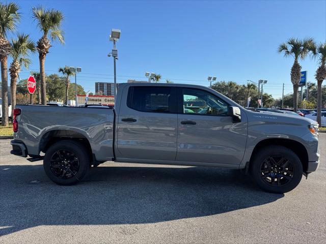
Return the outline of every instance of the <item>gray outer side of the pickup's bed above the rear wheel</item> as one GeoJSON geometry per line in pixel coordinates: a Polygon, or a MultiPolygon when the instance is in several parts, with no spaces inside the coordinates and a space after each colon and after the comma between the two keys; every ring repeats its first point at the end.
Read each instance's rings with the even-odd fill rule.
{"type": "Polygon", "coordinates": [[[28,155],[39,155],[53,138],[87,139],[97,161],[114,158],[113,109],[16,105],[21,109],[17,117],[15,140],[22,140],[28,155]]]}

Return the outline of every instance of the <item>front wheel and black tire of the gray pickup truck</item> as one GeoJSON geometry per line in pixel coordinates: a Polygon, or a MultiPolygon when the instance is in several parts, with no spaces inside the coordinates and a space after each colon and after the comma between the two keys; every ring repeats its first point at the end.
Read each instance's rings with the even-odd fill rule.
{"type": "Polygon", "coordinates": [[[271,193],[293,190],[301,181],[301,160],[284,146],[263,147],[250,164],[250,172],[258,186],[271,193]]]}

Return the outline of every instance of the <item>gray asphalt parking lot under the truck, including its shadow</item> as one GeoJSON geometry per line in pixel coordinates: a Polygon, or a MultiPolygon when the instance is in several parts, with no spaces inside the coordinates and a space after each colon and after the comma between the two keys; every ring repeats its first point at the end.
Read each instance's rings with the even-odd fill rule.
{"type": "Polygon", "coordinates": [[[0,140],[0,243],[325,243],[321,164],[286,194],[238,170],[106,162],[80,184],[53,184],[42,161],[0,140]]]}

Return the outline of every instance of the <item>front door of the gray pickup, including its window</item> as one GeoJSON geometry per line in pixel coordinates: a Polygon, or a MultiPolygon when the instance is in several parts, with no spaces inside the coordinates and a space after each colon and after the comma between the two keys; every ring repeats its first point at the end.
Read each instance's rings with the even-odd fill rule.
{"type": "Polygon", "coordinates": [[[240,164],[247,141],[247,118],[232,123],[228,106],[198,88],[178,88],[177,161],[240,164]]]}

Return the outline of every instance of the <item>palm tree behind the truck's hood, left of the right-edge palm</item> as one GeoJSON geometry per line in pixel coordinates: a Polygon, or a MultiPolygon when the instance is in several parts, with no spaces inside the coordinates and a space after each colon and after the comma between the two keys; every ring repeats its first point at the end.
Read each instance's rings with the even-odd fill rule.
{"type": "Polygon", "coordinates": [[[306,38],[304,40],[298,38],[290,38],[287,42],[283,42],[278,52],[283,52],[285,57],[293,56],[294,63],[291,68],[291,82],[293,84],[293,111],[297,109],[297,90],[301,80],[301,66],[298,63],[298,59],[305,59],[309,53],[309,46],[313,42],[312,38],[306,38]]]}

